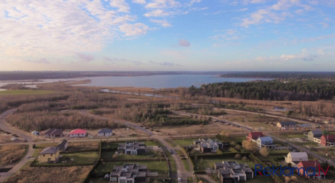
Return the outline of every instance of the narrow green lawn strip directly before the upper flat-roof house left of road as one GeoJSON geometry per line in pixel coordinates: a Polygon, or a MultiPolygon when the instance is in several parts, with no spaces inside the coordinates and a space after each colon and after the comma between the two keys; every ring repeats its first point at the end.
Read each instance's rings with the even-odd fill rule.
{"type": "Polygon", "coordinates": [[[114,151],[104,151],[101,152],[102,159],[155,159],[162,158],[164,155],[160,151],[149,151],[147,153],[138,155],[125,155],[125,154],[115,154],[114,151]],[[114,156],[114,157],[113,157],[114,156]]]}

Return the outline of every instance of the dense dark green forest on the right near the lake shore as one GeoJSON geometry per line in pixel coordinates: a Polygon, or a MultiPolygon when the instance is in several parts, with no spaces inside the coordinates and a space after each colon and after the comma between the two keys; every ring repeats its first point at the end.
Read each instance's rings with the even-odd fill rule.
{"type": "Polygon", "coordinates": [[[201,87],[188,87],[191,96],[207,95],[258,100],[331,100],[335,95],[335,82],[322,79],[293,81],[217,82],[201,87]]]}

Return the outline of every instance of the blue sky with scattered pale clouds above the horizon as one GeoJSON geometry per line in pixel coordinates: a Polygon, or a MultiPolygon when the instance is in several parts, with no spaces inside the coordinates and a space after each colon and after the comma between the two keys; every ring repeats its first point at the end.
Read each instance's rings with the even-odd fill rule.
{"type": "Polygon", "coordinates": [[[335,0],[1,0],[0,70],[335,71],[335,0]]]}

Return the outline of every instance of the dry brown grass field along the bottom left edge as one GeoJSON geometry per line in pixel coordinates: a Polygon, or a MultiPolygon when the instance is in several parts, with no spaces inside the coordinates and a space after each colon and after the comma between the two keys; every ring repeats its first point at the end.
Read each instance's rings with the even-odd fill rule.
{"type": "Polygon", "coordinates": [[[93,166],[27,167],[5,182],[83,182],[93,166]]]}

